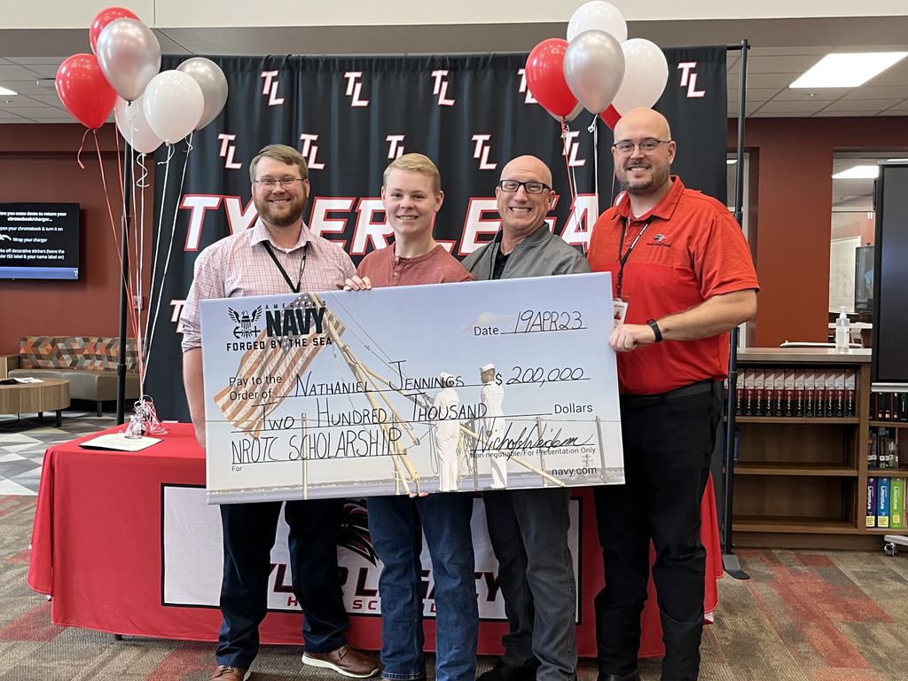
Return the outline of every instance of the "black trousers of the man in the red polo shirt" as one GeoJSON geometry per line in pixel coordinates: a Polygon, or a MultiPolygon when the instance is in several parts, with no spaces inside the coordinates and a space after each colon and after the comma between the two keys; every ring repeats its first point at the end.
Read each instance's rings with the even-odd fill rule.
{"type": "Polygon", "coordinates": [[[697,678],[706,549],[700,500],[721,417],[721,385],[676,400],[621,400],[625,485],[597,487],[606,587],[596,597],[599,671],[637,668],[649,543],[666,656],[663,681],[697,678]]]}

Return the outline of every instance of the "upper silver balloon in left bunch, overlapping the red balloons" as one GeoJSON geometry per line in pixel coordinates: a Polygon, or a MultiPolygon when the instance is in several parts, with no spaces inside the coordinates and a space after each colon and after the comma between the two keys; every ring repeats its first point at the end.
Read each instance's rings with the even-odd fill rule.
{"type": "Polygon", "coordinates": [[[161,69],[161,45],[152,30],[135,19],[117,19],[98,35],[98,64],[107,82],[134,102],[161,69]]]}

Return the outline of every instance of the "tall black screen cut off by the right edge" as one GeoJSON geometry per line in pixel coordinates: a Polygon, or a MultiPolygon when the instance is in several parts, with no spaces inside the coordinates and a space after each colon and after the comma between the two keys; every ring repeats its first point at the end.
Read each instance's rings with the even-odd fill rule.
{"type": "Polygon", "coordinates": [[[908,162],[880,163],[873,263],[875,383],[908,383],[908,162]]]}

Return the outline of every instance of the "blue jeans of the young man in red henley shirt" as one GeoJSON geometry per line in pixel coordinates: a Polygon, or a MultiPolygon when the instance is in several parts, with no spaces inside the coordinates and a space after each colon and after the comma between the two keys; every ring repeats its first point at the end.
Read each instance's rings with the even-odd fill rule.
{"type": "Polygon", "coordinates": [[[436,607],[438,681],[473,681],[479,607],[476,562],[469,520],[470,494],[369,499],[369,531],[384,568],[381,596],[381,664],[384,678],[411,681],[426,676],[422,648],[422,533],[432,560],[436,607]]]}

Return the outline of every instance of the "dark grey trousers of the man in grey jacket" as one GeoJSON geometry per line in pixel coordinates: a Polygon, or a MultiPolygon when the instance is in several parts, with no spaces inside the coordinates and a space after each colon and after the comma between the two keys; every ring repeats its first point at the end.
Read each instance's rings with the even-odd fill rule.
{"type": "Polygon", "coordinates": [[[568,547],[570,489],[483,492],[508,634],[501,660],[539,662],[538,681],[576,678],[577,586],[568,547]]]}

